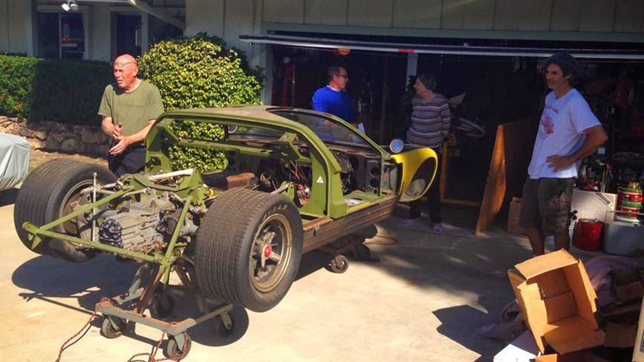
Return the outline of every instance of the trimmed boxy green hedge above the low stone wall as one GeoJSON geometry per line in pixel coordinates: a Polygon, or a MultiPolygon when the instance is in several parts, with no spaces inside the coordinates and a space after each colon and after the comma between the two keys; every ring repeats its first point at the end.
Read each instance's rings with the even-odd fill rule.
{"type": "Polygon", "coordinates": [[[108,62],[0,55],[0,114],[96,125],[112,81],[108,62]]]}

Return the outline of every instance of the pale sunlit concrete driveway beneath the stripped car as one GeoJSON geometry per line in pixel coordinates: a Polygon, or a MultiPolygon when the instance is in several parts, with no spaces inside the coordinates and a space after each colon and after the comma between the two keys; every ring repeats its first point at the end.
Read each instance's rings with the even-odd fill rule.
{"type": "MultiPolygon", "coordinates": [[[[15,234],[14,198],[10,191],[0,203],[0,356],[53,361],[100,297],[127,288],[137,265],[107,255],[66,263],[34,254],[15,234]]],[[[513,298],[506,271],[531,256],[527,240],[475,237],[449,224],[435,235],[424,225],[399,229],[398,222],[379,225],[374,242],[397,242],[370,245],[380,262],[351,262],[344,274],[332,274],[321,268],[325,256],[307,254],[277,307],[235,310],[234,336],[216,338],[208,323],[189,330],[185,361],[490,361],[504,345],[474,329],[498,321],[513,298]]],[[[189,310],[187,301],[179,304],[189,310]]],[[[96,318],[62,361],[128,361],[161,337],[137,325],[135,334],[106,339],[99,326],[96,318]]]]}

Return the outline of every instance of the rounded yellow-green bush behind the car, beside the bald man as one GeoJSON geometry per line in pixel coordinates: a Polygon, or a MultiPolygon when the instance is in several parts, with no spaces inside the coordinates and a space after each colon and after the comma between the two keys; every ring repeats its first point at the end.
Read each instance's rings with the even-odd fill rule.
{"type": "MultiPolygon", "coordinates": [[[[260,103],[261,71],[250,70],[243,55],[205,33],[156,43],[138,59],[138,67],[159,89],[166,111],[260,103]]],[[[223,129],[202,122],[177,122],[173,130],[202,140],[223,136],[223,129]]],[[[173,146],[169,154],[174,169],[226,167],[219,151],[173,146]]]]}

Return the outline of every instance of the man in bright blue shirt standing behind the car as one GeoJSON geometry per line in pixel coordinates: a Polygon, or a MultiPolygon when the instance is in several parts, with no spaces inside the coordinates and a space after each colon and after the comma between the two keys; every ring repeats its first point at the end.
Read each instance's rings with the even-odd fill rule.
{"type": "Polygon", "coordinates": [[[352,124],[355,128],[365,133],[365,126],[356,123],[354,111],[351,106],[351,97],[346,94],[346,84],[349,82],[349,73],[343,66],[330,66],[327,71],[328,84],[316,90],[311,98],[314,110],[331,113],[352,124]]]}

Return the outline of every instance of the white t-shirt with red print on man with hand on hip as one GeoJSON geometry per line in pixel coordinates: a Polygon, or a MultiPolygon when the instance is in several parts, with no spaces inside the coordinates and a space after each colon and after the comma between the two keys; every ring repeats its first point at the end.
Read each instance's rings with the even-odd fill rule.
{"type": "Polygon", "coordinates": [[[576,177],[580,161],[555,172],[547,163],[547,157],[572,155],[585,140],[583,131],[598,125],[599,120],[576,89],[573,88],[559,99],[556,99],[554,91],[548,93],[528,166],[530,178],[576,177]]]}

